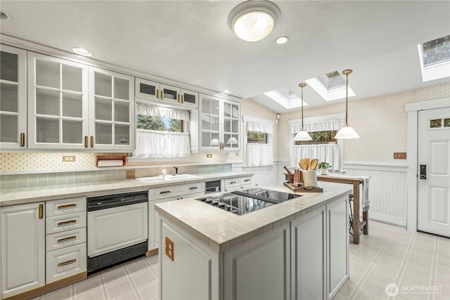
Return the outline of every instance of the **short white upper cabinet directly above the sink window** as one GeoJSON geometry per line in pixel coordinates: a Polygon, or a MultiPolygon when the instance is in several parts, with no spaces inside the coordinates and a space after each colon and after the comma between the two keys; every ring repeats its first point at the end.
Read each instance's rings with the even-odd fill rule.
{"type": "Polygon", "coordinates": [[[198,107],[198,93],[156,81],[136,78],[136,97],[173,106],[198,107]]]}

